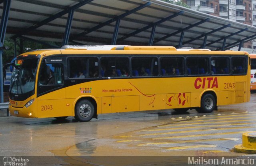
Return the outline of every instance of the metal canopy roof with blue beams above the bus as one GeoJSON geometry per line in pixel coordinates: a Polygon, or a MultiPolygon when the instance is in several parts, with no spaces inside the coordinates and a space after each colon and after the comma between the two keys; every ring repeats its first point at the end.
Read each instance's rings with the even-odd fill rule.
{"type": "MultiPolygon", "coordinates": [[[[0,13],[4,9],[2,1],[0,13]]],[[[226,50],[256,38],[255,32],[254,26],[160,0],[12,0],[6,37],[50,40],[62,45],[226,50]]]]}

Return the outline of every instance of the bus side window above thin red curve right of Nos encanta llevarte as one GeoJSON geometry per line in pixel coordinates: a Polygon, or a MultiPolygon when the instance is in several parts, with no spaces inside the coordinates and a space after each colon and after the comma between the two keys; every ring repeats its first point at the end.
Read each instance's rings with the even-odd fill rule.
{"type": "Polygon", "coordinates": [[[156,57],[133,57],[132,76],[157,76],[158,59],[156,57]]]}

